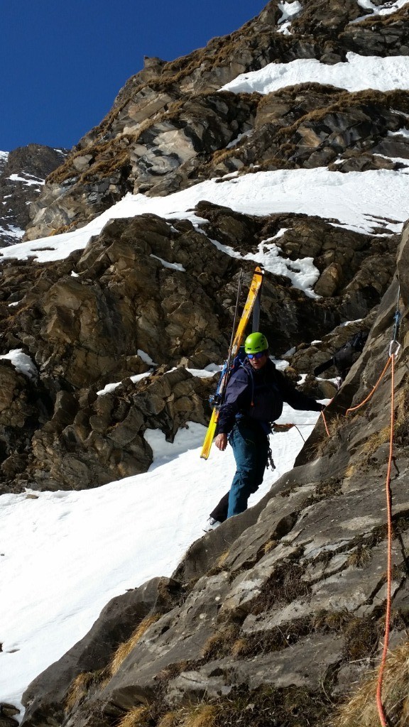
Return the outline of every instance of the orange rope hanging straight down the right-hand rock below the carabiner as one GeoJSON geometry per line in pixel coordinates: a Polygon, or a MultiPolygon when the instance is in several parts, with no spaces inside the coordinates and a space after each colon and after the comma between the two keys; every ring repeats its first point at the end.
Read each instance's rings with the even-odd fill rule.
{"type": "MultiPolygon", "coordinates": [[[[379,667],[378,686],[376,688],[376,704],[378,707],[378,715],[381,720],[381,726],[387,727],[386,716],[382,704],[382,683],[384,680],[384,670],[386,665],[386,654],[389,647],[389,628],[391,619],[391,591],[392,591],[392,501],[391,501],[391,469],[393,457],[393,437],[394,437],[394,353],[389,358],[392,363],[391,378],[391,431],[389,435],[389,461],[388,471],[386,473],[386,510],[388,515],[388,565],[387,565],[387,593],[386,593],[386,614],[385,614],[385,638],[384,650],[382,653],[381,666],[379,667]]],[[[386,369],[384,369],[386,370],[386,369]]]]}

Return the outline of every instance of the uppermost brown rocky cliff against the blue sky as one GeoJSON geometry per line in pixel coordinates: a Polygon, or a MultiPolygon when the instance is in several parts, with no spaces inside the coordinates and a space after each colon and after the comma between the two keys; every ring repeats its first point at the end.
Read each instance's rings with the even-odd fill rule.
{"type": "Polygon", "coordinates": [[[336,161],[338,171],[359,171],[396,166],[381,155],[409,159],[407,137],[387,138],[405,127],[405,92],[349,94],[317,84],[266,97],[220,91],[268,63],[342,63],[348,52],[408,55],[408,7],[376,15],[355,0],[309,0],[287,34],[282,14],[282,4],[271,0],[239,31],[204,49],[171,63],[146,60],[106,118],[49,175],[31,205],[26,238],[75,229],[128,191],[163,196],[255,164],[293,169],[336,161]]]}

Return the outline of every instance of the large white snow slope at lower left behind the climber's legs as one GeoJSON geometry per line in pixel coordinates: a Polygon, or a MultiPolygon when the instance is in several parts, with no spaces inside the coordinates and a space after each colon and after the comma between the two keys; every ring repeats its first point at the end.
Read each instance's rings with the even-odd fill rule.
{"type": "MultiPolygon", "coordinates": [[[[272,435],[276,470],[250,505],[293,466],[318,416],[285,405],[280,421],[301,426],[272,435]]],[[[90,630],[111,598],[170,576],[202,537],[234,473],[230,448],[200,459],[204,432],[191,422],[170,444],[151,430],[154,463],[143,475],[92,490],[0,497],[1,702],[20,705],[31,680],[90,630]]]]}

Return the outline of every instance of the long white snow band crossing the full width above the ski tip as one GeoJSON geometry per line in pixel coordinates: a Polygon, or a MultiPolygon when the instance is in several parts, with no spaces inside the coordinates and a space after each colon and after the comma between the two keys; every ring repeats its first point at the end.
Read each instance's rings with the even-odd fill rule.
{"type": "MultiPolygon", "coordinates": [[[[167,220],[190,220],[199,229],[200,225],[207,225],[207,220],[193,212],[199,201],[209,201],[230,207],[235,212],[258,216],[290,212],[317,215],[323,219],[335,218],[338,223],[330,224],[365,234],[376,232],[379,220],[383,217],[392,220],[385,221],[386,232],[397,233],[402,230],[402,222],[408,217],[408,172],[408,169],[372,169],[343,174],[330,172],[326,167],[278,169],[274,172],[243,174],[223,182],[206,180],[167,197],[128,193],[84,228],[53,236],[52,246],[49,237],[40,238],[3,247],[0,257],[17,257],[20,260],[34,257],[39,262],[63,260],[74,250],[84,249],[92,236],[98,235],[110,220],[145,213],[158,214],[167,220]],[[373,219],[375,215],[378,222],[373,219]]],[[[240,257],[238,252],[227,246],[219,249],[240,257]]]]}

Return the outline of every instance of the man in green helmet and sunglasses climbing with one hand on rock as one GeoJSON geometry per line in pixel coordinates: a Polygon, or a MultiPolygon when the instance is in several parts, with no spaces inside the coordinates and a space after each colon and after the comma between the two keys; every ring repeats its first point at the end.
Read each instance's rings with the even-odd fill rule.
{"type": "Polygon", "coordinates": [[[210,513],[207,530],[246,510],[250,494],[261,485],[271,459],[270,425],[282,413],[283,402],[293,409],[324,409],[315,399],[297,391],[277,371],[269,358],[269,344],[262,333],[247,336],[245,353],[244,363],[232,374],[227,385],[215,438],[215,445],[221,451],[229,441],[237,470],[230,491],[210,513]]]}

